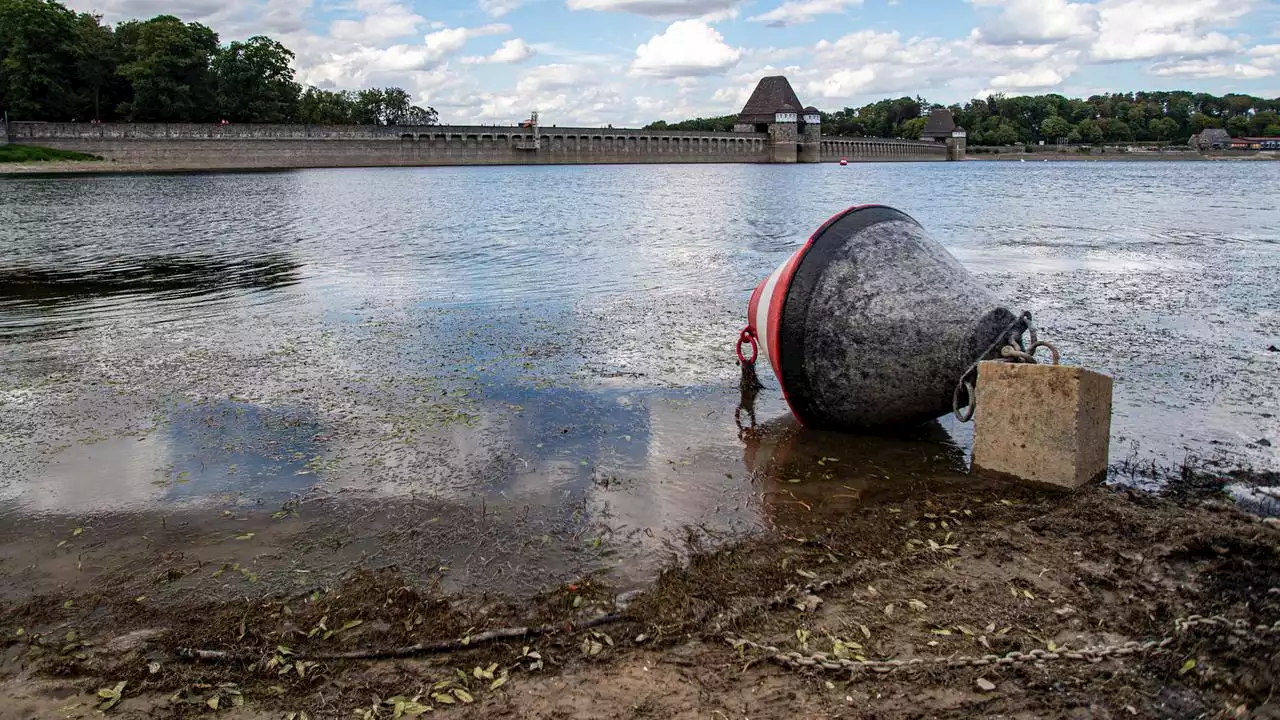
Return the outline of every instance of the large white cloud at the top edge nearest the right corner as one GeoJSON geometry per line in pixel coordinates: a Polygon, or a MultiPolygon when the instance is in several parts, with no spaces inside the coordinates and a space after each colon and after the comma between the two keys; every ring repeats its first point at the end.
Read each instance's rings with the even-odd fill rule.
{"type": "Polygon", "coordinates": [[[1254,0],[1102,0],[1097,61],[1204,58],[1240,49],[1215,31],[1245,15],[1254,0]]]}

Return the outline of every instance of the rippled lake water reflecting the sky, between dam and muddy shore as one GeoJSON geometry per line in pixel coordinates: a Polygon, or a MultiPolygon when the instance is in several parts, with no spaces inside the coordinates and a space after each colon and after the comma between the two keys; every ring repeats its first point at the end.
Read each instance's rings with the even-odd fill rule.
{"type": "Polygon", "coordinates": [[[735,424],[750,291],[861,202],[1115,378],[1114,461],[1280,470],[1277,197],[1270,163],[0,177],[0,536],[180,516],[532,588],[767,527],[820,457],[961,473],[969,425],[805,433],[772,378],[735,424]]]}

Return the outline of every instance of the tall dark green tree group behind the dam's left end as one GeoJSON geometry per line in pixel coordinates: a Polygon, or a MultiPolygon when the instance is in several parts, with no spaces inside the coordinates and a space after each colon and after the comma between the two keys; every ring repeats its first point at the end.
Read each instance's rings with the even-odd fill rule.
{"type": "Polygon", "coordinates": [[[173,15],[114,27],[55,0],[0,0],[0,110],[15,120],[435,124],[398,87],[303,88],[265,36],[223,45],[173,15]]]}

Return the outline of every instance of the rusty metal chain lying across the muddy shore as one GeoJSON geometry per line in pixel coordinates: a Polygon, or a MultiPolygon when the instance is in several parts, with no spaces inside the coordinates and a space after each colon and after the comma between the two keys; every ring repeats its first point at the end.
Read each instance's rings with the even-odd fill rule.
{"type": "Polygon", "coordinates": [[[1178,639],[1178,633],[1184,633],[1196,626],[1224,628],[1231,634],[1240,637],[1260,637],[1271,633],[1280,633],[1280,621],[1271,625],[1251,625],[1247,620],[1230,620],[1221,615],[1202,616],[1190,615],[1174,621],[1174,634],[1158,641],[1129,641],[1121,644],[1092,646],[1082,650],[1044,650],[1036,648],[1027,652],[1012,651],[1005,655],[974,655],[974,656],[940,656],[940,657],[913,657],[910,660],[850,660],[847,657],[835,657],[828,652],[814,652],[803,655],[800,652],[783,652],[774,646],[760,644],[746,638],[733,638],[726,635],[726,642],[735,650],[749,647],[768,655],[768,659],[778,665],[792,670],[814,667],[818,670],[870,670],[872,673],[892,673],[902,667],[983,667],[1000,665],[1019,665],[1023,662],[1052,662],[1055,660],[1074,660],[1082,662],[1101,662],[1108,657],[1125,657],[1129,655],[1158,653],[1178,639]]]}

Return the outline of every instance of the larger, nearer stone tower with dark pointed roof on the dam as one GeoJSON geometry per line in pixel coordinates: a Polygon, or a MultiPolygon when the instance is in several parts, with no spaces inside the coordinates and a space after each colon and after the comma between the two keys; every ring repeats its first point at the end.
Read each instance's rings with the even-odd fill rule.
{"type": "Polygon", "coordinates": [[[774,163],[818,163],[822,160],[822,114],[804,108],[783,76],[760,78],[733,132],[765,132],[774,163]]]}

